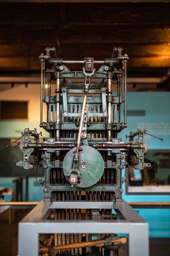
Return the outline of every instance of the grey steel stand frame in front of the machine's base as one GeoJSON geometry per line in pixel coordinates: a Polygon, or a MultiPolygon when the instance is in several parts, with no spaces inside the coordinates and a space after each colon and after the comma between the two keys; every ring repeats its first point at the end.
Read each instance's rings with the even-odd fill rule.
{"type": "Polygon", "coordinates": [[[38,256],[41,233],[124,233],[129,236],[130,256],[149,256],[148,224],[122,202],[41,201],[19,224],[19,256],[38,256]],[[114,209],[124,220],[46,220],[52,209],[114,209]]]}

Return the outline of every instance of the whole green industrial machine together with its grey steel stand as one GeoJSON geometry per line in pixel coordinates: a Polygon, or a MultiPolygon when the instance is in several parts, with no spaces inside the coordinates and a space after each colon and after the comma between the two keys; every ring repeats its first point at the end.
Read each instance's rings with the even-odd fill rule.
{"type": "Polygon", "coordinates": [[[127,61],[116,47],[102,61],[65,61],[54,47],[40,55],[40,127],[48,137],[40,140],[36,128],[26,128],[17,166],[43,166],[44,200],[20,223],[19,256],[118,255],[127,241],[119,233],[129,235],[130,256],[148,256],[148,225],[122,200],[125,166],[150,166],[145,130],[130,132],[128,142],[119,136],[127,128],[127,61]]]}

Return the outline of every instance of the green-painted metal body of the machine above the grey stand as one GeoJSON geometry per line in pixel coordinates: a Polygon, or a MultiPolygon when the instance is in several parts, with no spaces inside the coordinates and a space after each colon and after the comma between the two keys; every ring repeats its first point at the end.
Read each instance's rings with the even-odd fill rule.
{"type": "Polygon", "coordinates": [[[24,156],[17,165],[31,169],[37,167],[30,164],[31,154],[39,155],[38,162],[40,162],[40,156],[42,157],[44,177],[41,182],[45,188],[44,200],[51,200],[51,193],[58,191],[110,191],[114,192],[115,200],[121,201],[122,183],[125,182],[122,178],[122,169],[125,168],[126,163],[124,164],[123,161],[126,156],[128,159],[131,154],[136,155],[136,161],[133,163],[129,161],[136,169],[143,169],[148,165],[144,163],[147,143],[144,141],[142,130],[130,134],[130,145],[126,148],[121,148],[122,139],[117,137],[118,133],[127,127],[126,64],[128,57],[122,55],[121,48],[116,48],[112,58],[102,61],[95,61],[94,58],[65,61],[57,56],[51,58],[50,52],[51,48],[47,47],[46,54],[40,55],[42,62],[40,127],[49,132],[50,137],[44,138],[43,143],[36,137],[32,140],[30,138],[32,131],[26,128],[23,133],[24,140],[21,143],[24,156]],[[92,70],[88,70],[86,66],[89,62],[93,67],[92,70]],[[67,64],[82,64],[83,71],[71,71],[67,64]],[[95,70],[96,64],[101,65],[99,70],[95,70]],[[88,80],[89,78],[91,81],[88,80]],[[71,79],[82,79],[82,83],[72,82],[71,79]],[[94,83],[94,79],[98,81],[94,83]],[[121,79],[122,87],[119,87],[121,79]],[[112,94],[111,80],[118,82],[116,96],[112,94]],[[48,85],[51,81],[56,82],[55,94],[51,95],[50,89],[45,91],[45,81],[48,81],[48,85]],[[90,83],[89,90],[84,87],[85,81],[90,83]],[[84,89],[87,92],[87,101],[84,105],[82,133],[87,137],[82,137],[80,141],[80,148],[85,150],[79,152],[79,157],[74,159],[72,152],[77,146],[84,89]],[[123,102],[125,102],[125,122],[121,123],[120,108],[123,102]],[[46,120],[42,120],[42,112],[45,109],[43,107],[42,111],[42,103],[46,104],[47,108],[46,120]],[[134,136],[138,139],[133,141],[134,136]],[[57,143],[59,146],[56,146],[57,143]],[[107,143],[110,143],[110,146],[107,143]],[[101,147],[101,144],[107,147],[101,147]],[[71,174],[78,179],[78,183],[74,186],[71,186],[69,181],[71,174]]]}

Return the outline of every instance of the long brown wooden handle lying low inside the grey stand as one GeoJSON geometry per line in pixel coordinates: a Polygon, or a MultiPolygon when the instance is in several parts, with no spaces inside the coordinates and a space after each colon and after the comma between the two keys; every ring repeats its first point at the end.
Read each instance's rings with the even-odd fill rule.
{"type": "MultiPolygon", "coordinates": [[[[68,250],[68,249],[75,249],[75,248],[83,248],[83,247],[99,247],[103,246],[105,243],[114,243],[114,242],[121,242],[122,244],[125,244],[127,242],[127,238],[125,236],[120,237],[120,239],[117,240],[111,240],[111,241],[105,241],[105,240],[94,240],[94,241],[85,241],[81,243],[75,243],[75,244],[62,244],[53,246],[54,250],[68,250]]],[[[47,252],[49,249],[48,247],[41,247],[41,252],[47,252]]]]}

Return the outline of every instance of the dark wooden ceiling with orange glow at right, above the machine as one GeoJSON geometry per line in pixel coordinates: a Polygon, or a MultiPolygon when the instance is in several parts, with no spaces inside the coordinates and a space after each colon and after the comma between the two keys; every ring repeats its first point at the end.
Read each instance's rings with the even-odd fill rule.
{"type": "Polygon", "coordinates": [[[0,72],[40,72],[45,47],[70,60],[111,58],[122,47],[130,76],[166,76],[169,10],[170,3],[1,3],[0,72]]]}

